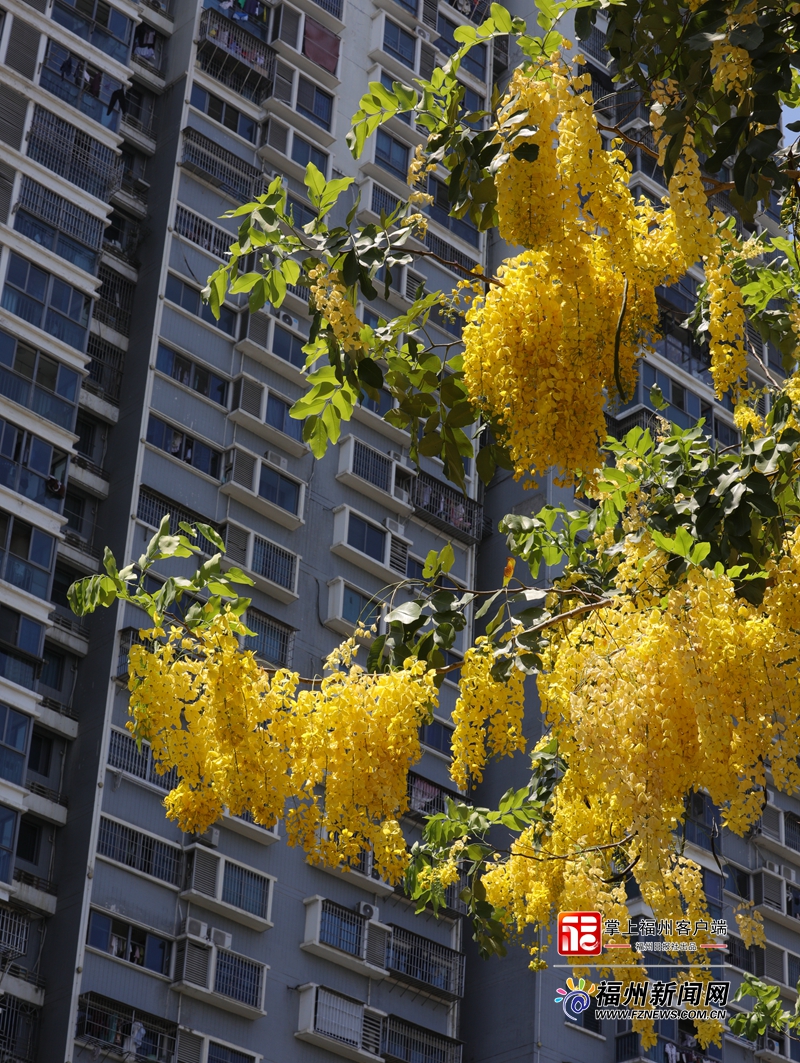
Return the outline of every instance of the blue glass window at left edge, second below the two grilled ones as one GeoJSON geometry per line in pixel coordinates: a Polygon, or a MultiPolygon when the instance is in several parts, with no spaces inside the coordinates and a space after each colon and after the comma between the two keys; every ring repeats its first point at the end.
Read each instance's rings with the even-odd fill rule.
{"type": "Polygon", "coordinates": [[[79,375],[0,330],[0,394],[62,428],[75,417],[79,375]]]}

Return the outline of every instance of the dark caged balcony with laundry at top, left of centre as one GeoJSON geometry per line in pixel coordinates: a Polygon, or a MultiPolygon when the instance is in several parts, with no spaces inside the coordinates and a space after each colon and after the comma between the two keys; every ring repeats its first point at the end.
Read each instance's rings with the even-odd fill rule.
{"type": "Polygon", "coordinates": [[[216,81],[260,104],[270,92],[275,52],[232,19],[206,10],[200,19],[198,63],[216,81]]]}

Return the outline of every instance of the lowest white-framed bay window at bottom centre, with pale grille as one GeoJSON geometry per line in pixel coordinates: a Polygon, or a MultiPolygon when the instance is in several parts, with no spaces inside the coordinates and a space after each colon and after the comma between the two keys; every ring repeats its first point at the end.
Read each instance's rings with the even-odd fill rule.
{"type": "Polygon", "coordinates": [[[300,986],[300,1023],[294,1036],[344,1059],[370,1063],[381,1059],[385,1020],[384,1012],[360,1000],[309,983],[300,986]]]}

